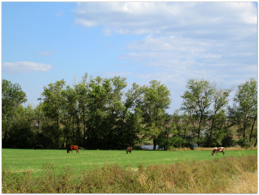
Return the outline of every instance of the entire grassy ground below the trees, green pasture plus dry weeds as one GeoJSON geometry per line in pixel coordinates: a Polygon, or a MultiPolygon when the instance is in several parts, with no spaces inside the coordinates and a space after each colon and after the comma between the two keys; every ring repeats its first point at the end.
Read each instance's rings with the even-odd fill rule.
{"type": "Polygon", "coordinates": [[[2,149],[2,193],[257,193],[257,150],[225,153],[2,149]]]}

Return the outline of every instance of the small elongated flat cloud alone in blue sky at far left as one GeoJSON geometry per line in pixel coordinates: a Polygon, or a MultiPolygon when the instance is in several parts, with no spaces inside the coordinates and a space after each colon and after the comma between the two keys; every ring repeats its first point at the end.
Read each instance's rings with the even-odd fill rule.
{"type": "Polygon", "coordinates": [[[4,62],[2,70],[6,73],[31,73],[50,70],[51,64],[35,63],[35,62],[4,62]]]}

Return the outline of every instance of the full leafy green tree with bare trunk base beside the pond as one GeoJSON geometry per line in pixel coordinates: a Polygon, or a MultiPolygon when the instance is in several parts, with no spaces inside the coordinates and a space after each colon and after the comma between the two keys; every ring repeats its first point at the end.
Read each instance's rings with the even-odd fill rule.
{"type": "Polygon", "coordinates": [[[159,135],[165,131],[163,125],[167,117],[166,109],[171,104],[170,90],[160,81],[152,80],[143,89],[143,98],[139,104],[143,118],[143,134],[153,140],[154,150],[159,135]]]}

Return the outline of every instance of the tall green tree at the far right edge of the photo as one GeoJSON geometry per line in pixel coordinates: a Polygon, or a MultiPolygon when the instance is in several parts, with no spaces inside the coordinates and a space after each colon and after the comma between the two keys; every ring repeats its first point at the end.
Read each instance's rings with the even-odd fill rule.
{"type": "Polygon", "coordinates": [[[257,125],[257,81],[254,78],[238,85],[229,115],[238,126],[241,145],[249,145],[251,139],[255,138],[254,127],[257,125]]]}

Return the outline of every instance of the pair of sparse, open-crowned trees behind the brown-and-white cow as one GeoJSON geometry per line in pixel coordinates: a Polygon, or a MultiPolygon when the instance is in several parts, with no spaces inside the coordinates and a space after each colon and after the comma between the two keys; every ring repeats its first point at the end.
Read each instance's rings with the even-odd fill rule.
{"type": "Polygon", "coordinates": [[[220,135],[224,135],[225,109],[230,100],[228,99],[229,94],[234,90],[234,86],[224,89],[222,86],[217,87],[215,81],[210,82],[204,80],[204,78],[191,78],[185,87],[186,90],[181,95],[183,98],[181,110],[190,117],[193,134],[198,135],[198,146],[203,141],[200,138],[202,131],[205,131],[206,137],[204,142],[206,142],[208,147],[215,143],[212,143],[212,138],[221,143],[221,140],[224,138],[224,136],[220,135]],[[222,113],[224,114],[223,116],[222,113]],[[221,133],[215,133],[217,131],[221,133]]]}

